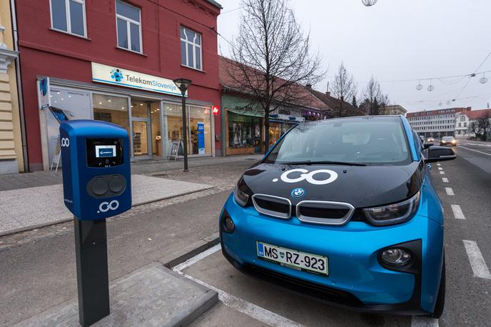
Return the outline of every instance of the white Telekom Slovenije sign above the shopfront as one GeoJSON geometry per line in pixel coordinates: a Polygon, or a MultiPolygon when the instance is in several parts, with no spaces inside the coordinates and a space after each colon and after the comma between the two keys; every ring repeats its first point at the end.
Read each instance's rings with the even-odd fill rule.
{"type": "Polygon", "coordinates": [[[181,91],[171,79],[95,62],[92,63],[92,81],[181,96],[181,91]]]}

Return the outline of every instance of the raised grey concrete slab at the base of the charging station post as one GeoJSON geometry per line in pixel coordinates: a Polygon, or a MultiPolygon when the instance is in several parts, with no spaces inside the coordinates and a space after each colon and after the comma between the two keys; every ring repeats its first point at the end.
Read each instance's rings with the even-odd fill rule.
{"type": "MultiPolygon", "coordinates": [[[[111,314],[92,326],[186,326],[218,302],[218,293],[151,263],[116,279],[111,314]]],[[[14,326],[78,326],[76,298],[14,326]]]]}

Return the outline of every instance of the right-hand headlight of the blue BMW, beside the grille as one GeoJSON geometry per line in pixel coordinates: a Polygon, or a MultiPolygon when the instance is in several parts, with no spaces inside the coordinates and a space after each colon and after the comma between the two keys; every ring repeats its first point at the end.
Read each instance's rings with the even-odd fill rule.
{"type": "Polygon", "coordinates": [[[408,221],[420,204],[420,192],[418,191],[414,196],[400,203],[365,208],[363,209],[365,217],[375,226],[393,225],[408,221]]]}

